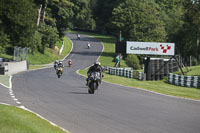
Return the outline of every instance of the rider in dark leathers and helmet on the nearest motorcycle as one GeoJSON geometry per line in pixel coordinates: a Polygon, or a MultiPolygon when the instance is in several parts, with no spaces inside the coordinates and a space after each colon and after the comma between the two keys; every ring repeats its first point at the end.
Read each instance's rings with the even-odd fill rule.
{"type": "Polygon", "coordinates": [[[101,67],[100,62],[95,61],[94,65],[89,68],[89,70],[87,72],[88,78],[86,79],[86,81],[87,81],[86,85],[87,86],[88,86],[88,82],[89,82],[89,79],[90,79],[92,72],[99,72],[100,73],[100,84],[101,84],[101,79],[103,77],[103,74],[102,74],[102,67],[101,67]]]}

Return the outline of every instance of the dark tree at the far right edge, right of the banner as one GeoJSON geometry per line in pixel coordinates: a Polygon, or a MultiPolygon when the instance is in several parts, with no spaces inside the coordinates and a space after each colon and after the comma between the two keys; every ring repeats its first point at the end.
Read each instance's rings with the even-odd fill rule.
{"type": "Polygon", "coordinates": [[[178,49],[183,57],[199,58],[200,53],[200,3],[185,0],[184,24],[177,35],[178,49]]]}

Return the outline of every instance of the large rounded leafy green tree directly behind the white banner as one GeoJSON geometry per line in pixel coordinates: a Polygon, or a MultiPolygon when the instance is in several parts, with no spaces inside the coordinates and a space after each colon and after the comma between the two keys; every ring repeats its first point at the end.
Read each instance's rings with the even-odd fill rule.
{"type": "Polygon", "coordinates": [[[154,2],[126,0],[113,10],[112,25],[116,33],[122,31],[125,40],[166,40],[164,23],[154,2]]]}

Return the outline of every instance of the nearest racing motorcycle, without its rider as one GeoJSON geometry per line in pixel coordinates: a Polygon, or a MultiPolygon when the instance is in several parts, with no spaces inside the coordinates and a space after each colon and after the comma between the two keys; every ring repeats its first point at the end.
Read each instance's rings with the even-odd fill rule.
{"type": "Polygon", "coordinates": [[[99,72],[93,72],[89,77],[88,81],[88,93],[94,94],[95,90],[98,90],[101,81],[101,76],[99,72]]]}

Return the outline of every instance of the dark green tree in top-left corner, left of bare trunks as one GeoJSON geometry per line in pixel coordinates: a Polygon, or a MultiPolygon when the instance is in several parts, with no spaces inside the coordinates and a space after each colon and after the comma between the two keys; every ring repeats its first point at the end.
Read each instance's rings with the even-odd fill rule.
{"type": "MultiPolygon", "coordinates": [[[[0,28],[14,46],[29,47],[36,31],[35,4],[33,0],[0,0],[0,28]]],[[[6,42],[7,43],[7,42],[6,42]]]]}

